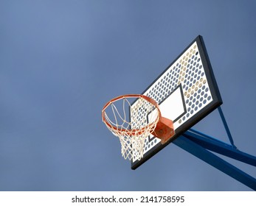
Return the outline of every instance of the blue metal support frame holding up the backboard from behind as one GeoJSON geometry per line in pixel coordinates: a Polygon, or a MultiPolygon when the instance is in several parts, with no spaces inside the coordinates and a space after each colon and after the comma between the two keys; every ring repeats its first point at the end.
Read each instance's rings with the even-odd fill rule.
{"type": "Polygon", "coordinates": [[[232,166],[232,164],[212,153],[216,152],[251,166],[256,166],[255,156],[241,152],[235,146],[221,107],[218,107],[218,112],[220,113],[231,145],[212,138],[209,135],[205,135],[202,132],[198,132],[195,129],[187,130],[183,135],[173,141],[173,143],[256,191],[256,179],[254,177],[246,174],[244,171],[241,171],[241,169],[232,166]]]}

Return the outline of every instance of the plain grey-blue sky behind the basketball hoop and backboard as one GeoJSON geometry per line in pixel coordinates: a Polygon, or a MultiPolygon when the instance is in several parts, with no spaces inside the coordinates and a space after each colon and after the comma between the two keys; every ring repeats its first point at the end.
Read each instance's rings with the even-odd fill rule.
{"type": "MultiPolygon", "coordinates": [[[[0,190],[250,191],[173,144],[132,171],[101,110],[142,93],[202,35],[235,145],[256,156],[255,10],[256,1],[0,1],[0,190]]],[[[194,129],[229,142],[217,111],[194,129]]]]}

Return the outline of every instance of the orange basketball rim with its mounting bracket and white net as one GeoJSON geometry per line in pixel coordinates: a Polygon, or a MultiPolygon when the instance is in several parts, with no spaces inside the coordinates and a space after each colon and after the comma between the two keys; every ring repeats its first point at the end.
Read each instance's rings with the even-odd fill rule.
{"type": "Polygon", "coordinates": [[[145,138],[154,135],[166,143],[173,135],[173,121],[161,115],[159,105],[150,97],[127,94],[111,99],[102,111],[103,122],[118,138],[122,156],[129,160],[143,157],[145,138]]]}

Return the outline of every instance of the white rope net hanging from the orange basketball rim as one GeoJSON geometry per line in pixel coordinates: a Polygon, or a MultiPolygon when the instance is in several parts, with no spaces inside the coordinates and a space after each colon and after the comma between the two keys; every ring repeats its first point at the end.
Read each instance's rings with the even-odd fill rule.
{"type": "Polygon", "coordinates": [[[108,129],[120,138],[122,157],[140,160],[145,138],[153,132],[159,121],[156,105],[142,97],[122,97],[105,107],[103,116],[108,129]]]}

